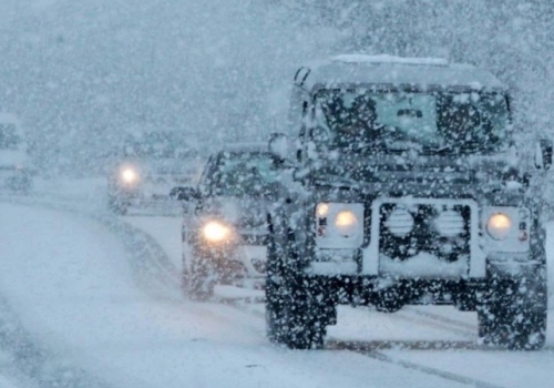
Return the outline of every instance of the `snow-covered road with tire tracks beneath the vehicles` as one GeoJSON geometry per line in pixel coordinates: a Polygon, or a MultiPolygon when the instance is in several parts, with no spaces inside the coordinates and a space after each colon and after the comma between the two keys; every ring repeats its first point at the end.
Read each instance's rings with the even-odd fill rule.
{"type": "Polygon", "coordinates": [[[178,217],[99,218],[9,202],[0,202],[0,370],[12,371],[14,386],[550,388],[554,381],[552,318],[546,349],[509,353],[476,345],[471,313],[345,307],[327,350],[291,351],[266,339],[260,304],[182,298],[178,217]],[[35,356],[21,357],[18,344],[35,356]]]}

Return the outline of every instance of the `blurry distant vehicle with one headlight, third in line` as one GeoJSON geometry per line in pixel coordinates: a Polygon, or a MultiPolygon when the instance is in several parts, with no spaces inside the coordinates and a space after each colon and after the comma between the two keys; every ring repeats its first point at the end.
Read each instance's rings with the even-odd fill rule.
{"type": "Polygon", "coordinates": [[[109,208],[123,215],[130,206],[163,205],[170,190],[193,182],[198,170],[198,153],[179,131],[129,136],[110,170],[109,208]]]}

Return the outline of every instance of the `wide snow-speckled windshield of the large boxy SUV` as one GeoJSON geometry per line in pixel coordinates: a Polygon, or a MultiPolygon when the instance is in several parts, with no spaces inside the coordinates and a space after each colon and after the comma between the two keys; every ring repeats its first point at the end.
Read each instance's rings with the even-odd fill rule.
{"type": "Polygon", "coordinates": [[[500,93],[322,90],[314,118],[336,146],[464,153],[501,151],[509,141],[500,93]]]}

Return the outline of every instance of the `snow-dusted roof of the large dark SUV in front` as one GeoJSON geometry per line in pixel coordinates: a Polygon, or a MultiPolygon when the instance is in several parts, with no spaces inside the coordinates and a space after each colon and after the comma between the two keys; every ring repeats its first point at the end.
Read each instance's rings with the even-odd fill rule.
{"type": "Polygon", "coordinates": [[[490,72],[471,64],[437,58],[343,54],[300,68],[295,84],[315,92],[337,85],[417,85],[423,89],[455,88],[505,91],[490,72]]]}

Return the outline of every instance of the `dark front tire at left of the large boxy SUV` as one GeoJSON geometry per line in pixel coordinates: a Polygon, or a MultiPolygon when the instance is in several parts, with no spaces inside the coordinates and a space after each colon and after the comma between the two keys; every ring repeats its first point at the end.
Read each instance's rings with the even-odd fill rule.
{"type": "Polygon", "coordinates": [[[266,279],[267,336],[270,341],[285,344],[290,349],[319,349],[324,347],[326,335],[325,308],[295,268],[284,265],[284,255],[290,255],[287,245],[279,245],[270,236],[266,279]]]}

